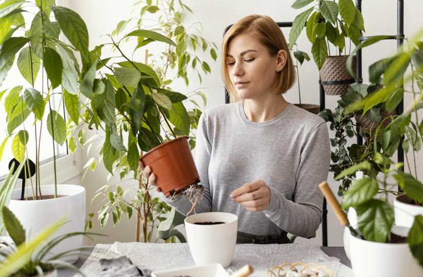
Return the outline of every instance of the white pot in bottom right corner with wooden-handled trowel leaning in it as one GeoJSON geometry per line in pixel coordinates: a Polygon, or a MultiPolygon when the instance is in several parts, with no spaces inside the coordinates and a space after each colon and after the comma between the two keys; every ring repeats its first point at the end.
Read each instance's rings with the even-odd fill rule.
{"type": "MultiPolygon", "coordinates": [[[[392,232],[406,236],[408,228],[393,226],[392,232]]],[[[423,276],[423,268],[414,259],[407,243],[370,242],[350,233],[349,240],[355,277],[423,276]]]]}

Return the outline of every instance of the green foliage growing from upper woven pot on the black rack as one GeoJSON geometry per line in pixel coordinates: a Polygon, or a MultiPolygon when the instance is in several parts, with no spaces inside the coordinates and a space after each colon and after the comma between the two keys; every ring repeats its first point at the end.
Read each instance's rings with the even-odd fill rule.
{"type": "Polygon", "coordinates": [[[292,23],[289,45],[293,47],[306,27],[307,37],[312,43],[314,62],[320,69],[326,57],[331,55],[329,43],[336,47],[339,55],[343,51],[345,54],[347,52],[345,38],[349,38],[355,45],[359,44],[360,32],[365,31],[364,21],[352,0],[296,0],[292,8],[300,9],[309,4],[312,7],[298,14],[292,23]]]}

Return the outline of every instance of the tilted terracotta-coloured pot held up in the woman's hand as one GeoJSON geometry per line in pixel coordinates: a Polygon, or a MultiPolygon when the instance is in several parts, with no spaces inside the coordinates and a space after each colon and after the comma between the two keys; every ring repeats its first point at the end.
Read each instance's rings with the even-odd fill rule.
{"type": "Polygon", "coordinates": [[[144,166],[150,166],[157,186],[166,197],[200,181],[187,136],[154,147],[140,160],[144,166]]]}

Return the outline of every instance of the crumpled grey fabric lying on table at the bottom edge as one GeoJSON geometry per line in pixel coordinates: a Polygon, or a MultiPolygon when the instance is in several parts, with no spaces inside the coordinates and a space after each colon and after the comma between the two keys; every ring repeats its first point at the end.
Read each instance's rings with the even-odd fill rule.
{"type": "Polygon", "coordinates": [[[99,263],[102,267],[102,272],[99,275],[102,277],[150,277],[151,275],[151,270],[143,266],[135,266],[131,259],[126,256],[115,259],[100,259],[99,263]]]}

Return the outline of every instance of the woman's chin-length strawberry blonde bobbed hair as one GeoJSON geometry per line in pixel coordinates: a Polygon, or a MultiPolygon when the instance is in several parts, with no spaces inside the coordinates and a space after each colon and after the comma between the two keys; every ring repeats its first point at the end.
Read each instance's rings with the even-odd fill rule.
{"type": "Polygon", "coordinates": [[[226,89],[229,92],[230,102],[237,102],[241,99],[232,85],[231,78],[226,64],[226,55],[228,53],[229,44],[232,39],[242,33],[248,33],[254,36],[258,41],[266,46],[271,56],[275,56],[277,52],[284,49],[287,52],[287,61],[284,68],[276,72],[274,94],[283,94],[295,83],[295,67],[289,52],[285,36],[280,30],[276,22],[272,18],[265,15],[252,14],[239,19],[225,33],[222,43],[222,77],[226,89]]]}

